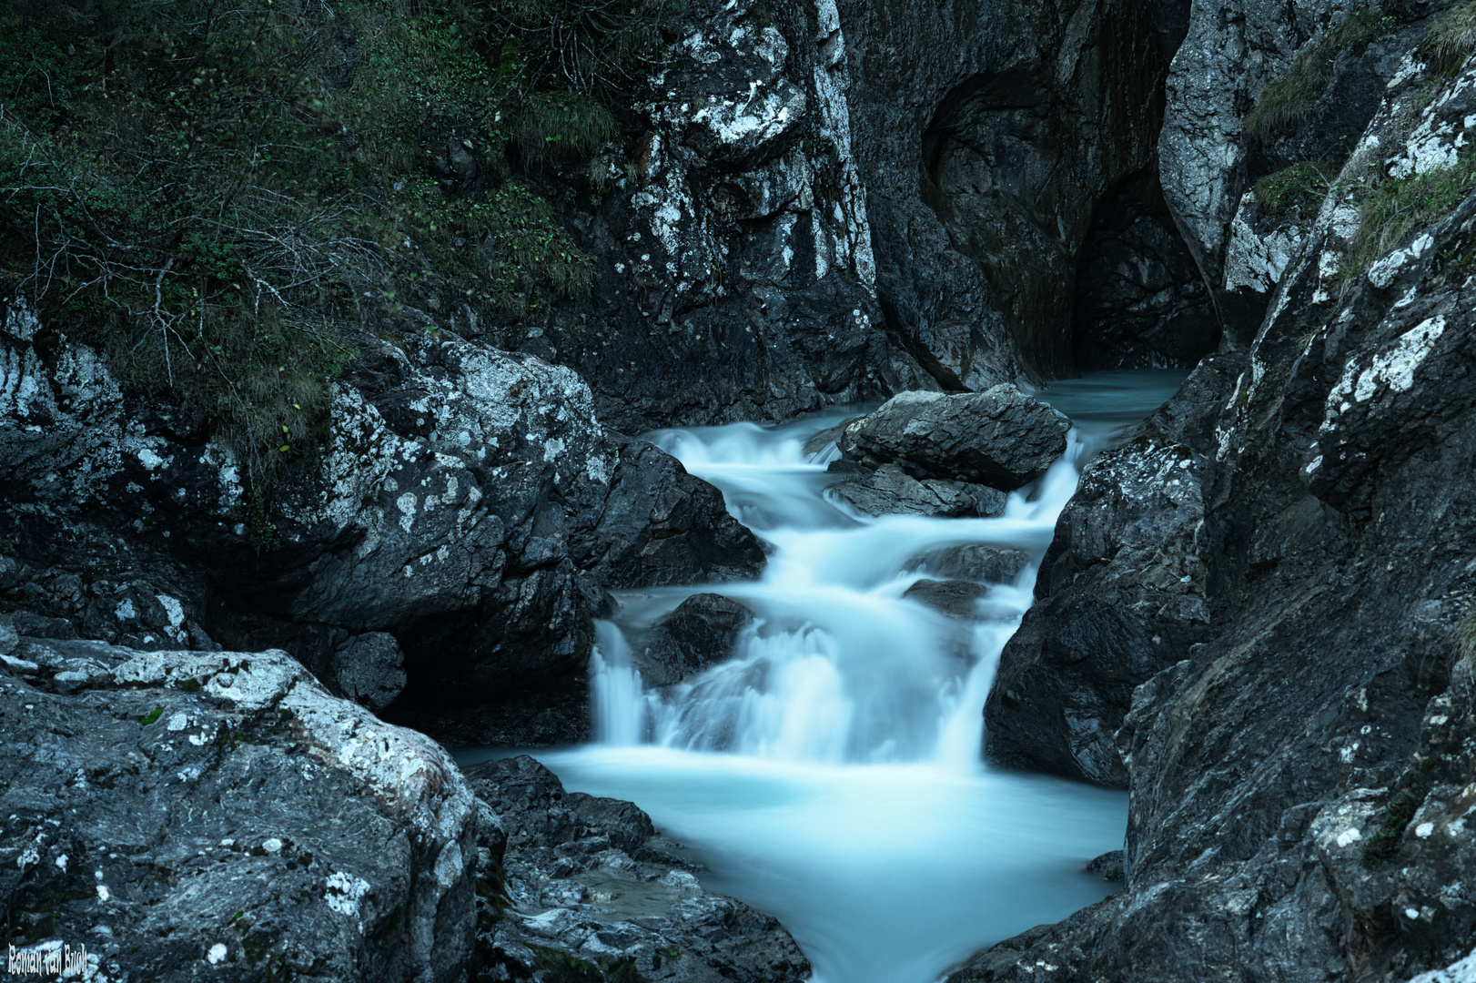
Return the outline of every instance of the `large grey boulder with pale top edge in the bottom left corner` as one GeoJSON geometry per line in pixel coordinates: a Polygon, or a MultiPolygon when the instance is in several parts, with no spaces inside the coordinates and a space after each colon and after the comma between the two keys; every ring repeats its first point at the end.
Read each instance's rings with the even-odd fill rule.
{"type": "Polygon", "coordinates": [[[462,979],[477,810],[428,738],[286,652],[44,641],[0,667],[10,943],[97,979],[462,979]],[[78,680],[80,677],[80,680],[78,680]]]}

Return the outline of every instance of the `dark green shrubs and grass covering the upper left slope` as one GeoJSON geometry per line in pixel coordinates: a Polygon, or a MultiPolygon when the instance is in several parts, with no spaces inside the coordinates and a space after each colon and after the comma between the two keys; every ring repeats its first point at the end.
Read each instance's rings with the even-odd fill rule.
{"type": "Polygon", "coordinates": [[[354,331],[387,335],[412,286],[490,319],[587,289],[527,176],[617,136],[607,105],[673,19],[666,0],[0,1],[0,291],[260,483],[323,435],[354,331]]]}

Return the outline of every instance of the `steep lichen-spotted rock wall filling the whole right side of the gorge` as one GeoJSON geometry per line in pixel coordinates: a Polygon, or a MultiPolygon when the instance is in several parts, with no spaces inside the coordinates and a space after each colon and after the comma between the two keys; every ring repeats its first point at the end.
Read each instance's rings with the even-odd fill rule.
{"type": "Polygon", "coordinates": [[[1404,13],[1306,41],[1327,89],[1237,143],[1255,114],[1227,100],[1212,137],[1175,100],[1274,21],[1196,9],[1160,146],[1165,174],[1169,148],[1218,162],[1166,193],[1199,189],[1200,263],[1266,316],[1083,475],[986,708],[999,760],[1129,790],[1128,886],[956,980],[1401,980],[1470,948],[1476,63],[1404,13]],[[1274,217],[1241,196],[1235,167],[1309,154],[1362,74],[1336,177],[1274,217]]]}

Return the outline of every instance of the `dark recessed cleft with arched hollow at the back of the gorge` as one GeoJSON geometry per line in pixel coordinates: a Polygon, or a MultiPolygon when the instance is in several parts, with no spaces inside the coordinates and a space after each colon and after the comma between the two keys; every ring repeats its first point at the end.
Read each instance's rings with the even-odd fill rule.
{"type": "Polygon", "coordinates": [[[964,80],[922,133],[921,198],[993,292],[1038,381],[1191,368],[1221,323],[1165,202],[1157,139],[1188,4],[1110,4],[1069,86],[1015,63],[964,80]]]}

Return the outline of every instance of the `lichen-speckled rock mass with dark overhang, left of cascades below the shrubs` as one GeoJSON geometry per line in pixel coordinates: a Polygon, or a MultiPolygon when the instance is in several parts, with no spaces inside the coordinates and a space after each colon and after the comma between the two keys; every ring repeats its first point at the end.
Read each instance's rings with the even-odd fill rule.
{"type": "Polygon", "coordinates": [[[568,741],[607,589],[763,564],[717,490],[607,432],[568,368],[449,332],[403,348],[365,335],[332,384],[322,453],[261,509],[227,447],[152,424],[167,407],[125,406],[84,345],[49,335],[41,359],[25,304],[4,317],[0,524],[21,552],[0,605],[90,638],[272,645],[335,679],[338,646],[385,632],[404,649],[406,713],[481,704],[489,735],[568,741]]]}

